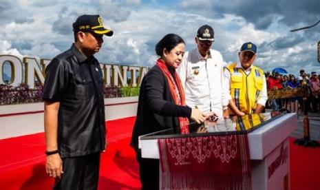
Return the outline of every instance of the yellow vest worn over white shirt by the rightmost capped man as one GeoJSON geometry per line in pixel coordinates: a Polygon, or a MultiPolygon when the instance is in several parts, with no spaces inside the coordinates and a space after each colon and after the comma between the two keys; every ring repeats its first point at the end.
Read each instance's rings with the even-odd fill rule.
{"type": "Polygon", "coordinates": [[[264,86],[264,71],[251,65],[251,72],[246,75],[246,72],[236,65],[237,63],[233,63],[226,66],[231,74],[231,97],[240,111],[252,114],[264,86]]]}

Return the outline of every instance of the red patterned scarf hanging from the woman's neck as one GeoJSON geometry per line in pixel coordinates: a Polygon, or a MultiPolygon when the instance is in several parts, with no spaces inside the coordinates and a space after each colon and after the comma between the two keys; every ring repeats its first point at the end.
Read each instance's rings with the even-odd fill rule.
{"type": "MultiPolygon", "coordinates": [[[[156,65],[160,68],[164,76],[167,78],[170,94],[176,105],[186,105],[184,90],[177,72],[174,72],[175,81],[171,76],[166,63],[162,59],[158,59],[156,65]]],[[[189,134],[189,120],[188,118],[179,117],[180,131],[181,134],[189,134]]]]}

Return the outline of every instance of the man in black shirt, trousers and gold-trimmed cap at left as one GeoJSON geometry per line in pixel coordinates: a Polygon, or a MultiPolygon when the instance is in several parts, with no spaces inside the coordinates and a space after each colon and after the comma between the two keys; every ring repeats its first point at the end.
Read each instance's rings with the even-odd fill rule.
{"type": "Polygon", "coordinates": [[[103,74],[94,54],[100,50],[99,15],[82,15],[73,24],[75,43],[46,69],[46,171],[53,189],[97,189],[100,152],[105,149],[103,74]]]}

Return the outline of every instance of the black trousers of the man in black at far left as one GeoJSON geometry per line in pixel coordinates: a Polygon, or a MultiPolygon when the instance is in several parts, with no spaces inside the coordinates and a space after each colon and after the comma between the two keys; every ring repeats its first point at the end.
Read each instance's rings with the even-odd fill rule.
{"type": "Polygon", "coordinates": [[[63,174],[53,189],[98,189],[100,152],[62,160],[63,174]]]}

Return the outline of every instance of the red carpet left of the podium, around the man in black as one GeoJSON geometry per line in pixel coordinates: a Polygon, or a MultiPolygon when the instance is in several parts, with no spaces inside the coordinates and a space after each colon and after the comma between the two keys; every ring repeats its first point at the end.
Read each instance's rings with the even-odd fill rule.
{"type": "MultiPolygon", "coordinates": [[[[134,117],[107,122],[98,189],[140,189],[138,163],[129,147],[134,117]]],[[[45,173],[43,133],[0,140],[0,189],[51,189],[45,173]]]]}

